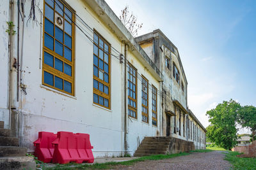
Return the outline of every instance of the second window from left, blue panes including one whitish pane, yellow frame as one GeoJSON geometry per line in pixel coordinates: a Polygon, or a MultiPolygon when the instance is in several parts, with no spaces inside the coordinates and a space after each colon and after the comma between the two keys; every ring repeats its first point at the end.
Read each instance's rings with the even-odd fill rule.
{"type": "Polygon", "coordinates": [[[110,109],[110,45],[93,33],[93,103],[110,109]]]}

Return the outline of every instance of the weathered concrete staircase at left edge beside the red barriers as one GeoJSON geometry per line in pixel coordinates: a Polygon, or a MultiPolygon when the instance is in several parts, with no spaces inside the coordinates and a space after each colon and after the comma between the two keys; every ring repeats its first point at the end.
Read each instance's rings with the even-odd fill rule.
{"type": "Polygon", "coordinates": [[[11,137],[10,129],[4,129],[0,121],[0,169],[35,169],[33,157],[27,157],[27,148],[19,147],[19,139],[11,137]]]}

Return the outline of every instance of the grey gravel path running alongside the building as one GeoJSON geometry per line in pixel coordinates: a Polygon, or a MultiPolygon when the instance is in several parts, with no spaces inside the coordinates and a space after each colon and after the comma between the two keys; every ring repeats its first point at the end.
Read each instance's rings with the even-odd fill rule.
{"type": "Polygon", "coordinates": [[[230,169],[230,164],[224,160],[223,151],[207,153],[191,153],[190,155],[163,160],[147,160],[133,166],[116,166],[116,169],[230,169]]]}

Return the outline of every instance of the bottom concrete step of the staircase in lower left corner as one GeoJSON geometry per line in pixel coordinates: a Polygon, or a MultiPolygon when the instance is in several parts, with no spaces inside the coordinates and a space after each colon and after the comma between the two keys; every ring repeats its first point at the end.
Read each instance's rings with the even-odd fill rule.
{"type": "Polygon", "coordinates": [[[36,162],[33,157],[1,157],[0,169],[36,169],[36,162]]]}

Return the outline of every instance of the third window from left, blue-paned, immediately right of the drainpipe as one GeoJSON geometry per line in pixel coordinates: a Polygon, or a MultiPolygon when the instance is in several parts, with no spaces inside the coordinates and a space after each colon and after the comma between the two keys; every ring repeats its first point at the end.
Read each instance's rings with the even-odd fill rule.
{"type": "Polygon", "coordinates": [[[137,70],[128,63],[128,115],[137,118],[137,70]]]}

